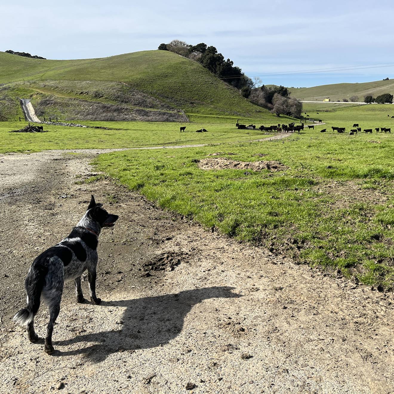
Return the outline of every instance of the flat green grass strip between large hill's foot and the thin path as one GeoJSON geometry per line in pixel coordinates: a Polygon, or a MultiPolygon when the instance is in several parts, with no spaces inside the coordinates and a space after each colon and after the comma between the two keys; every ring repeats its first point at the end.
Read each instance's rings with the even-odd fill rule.
{"type": "MultiPolygon", "coordinates": [[[[261,119],[249,121],[259,124],[261,119]]],[[[264,119],[263,119],[264,121],[264,119]]],[[[79,122],[76,122],[79,123],[79,122]]],[[[135,148],[161,145],[194,145],[251,141],[266,138],[260,130],[238,130],[236,120],[202,117],[190,123],[177,122],[93,122],[81,121],[87,126],[104,126],[112,130],[43,125],[46,133],[10,133],[27,125],[26,122],[0,122],[0,153],[39,152],[47,149],[135,148]],[[179,127],[186,126],[180,133],[179,127]],[[208,132],[196,133],[205,128],[208,132]],[[119,129],[119,130],[113,130],[119,129]]],[[[268,123],[267,123],[268,124],[268,123]]],[[[275,123],[273,123],[275,124],[275,123]]]]}

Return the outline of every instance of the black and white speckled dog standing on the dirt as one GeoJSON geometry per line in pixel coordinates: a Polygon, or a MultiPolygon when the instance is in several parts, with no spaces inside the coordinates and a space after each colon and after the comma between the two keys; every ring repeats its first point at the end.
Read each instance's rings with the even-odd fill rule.
{"type": "Polygon", "coordinates": [[[96,305],[101,302],[96,297],[99,234],[103,227],[112,227],[118,219],[117,215],[110,215],[101,207],[102,204],[96,204],[92,195],[84,217],[72,229],[71,234],[35,258],[26,277],[27,307],[20,310],[13,320],[20,325],[27,325],[30,342],[37,342],[33,320],[42,296],[50,314],[44,348],[48,354],[54,351],[52,331],[60,311],[64,282],[75,281],[77,302],[83,302],[81,275],[87,269],[90,299],[96,305]]]}

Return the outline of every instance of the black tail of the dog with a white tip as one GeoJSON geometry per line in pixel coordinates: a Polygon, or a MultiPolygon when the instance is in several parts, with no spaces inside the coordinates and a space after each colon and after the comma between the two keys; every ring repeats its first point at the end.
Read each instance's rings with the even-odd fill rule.
{"type": "Polygon", "coordinates": [[[28,325],[33,321],[40,307],[41,292],[45,286],[45,276],[48,269],[40,264],[32,265],[26,277],[25,288],[27,293],[27,306],[13,317],[13,321],[20,325],[28,325]]]}

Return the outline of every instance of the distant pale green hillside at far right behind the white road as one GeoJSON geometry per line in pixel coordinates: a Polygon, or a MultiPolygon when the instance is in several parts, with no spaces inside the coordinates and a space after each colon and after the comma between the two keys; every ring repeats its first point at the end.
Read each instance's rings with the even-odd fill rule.
{"type": "Polygon", "coordinates": [[[349,97],[356,95],[360,101],[364,101],[364,97],[368,95],[376,97],[383,93],[394,94],[394,80],[365,82],[362,84],[332,84],[302,88],[290,87],[289,90],[292,93],[292,97],[300,100],[321,101],[329,97],[333,101],[342,101],[343,99],[349,99],[349,97]]]}

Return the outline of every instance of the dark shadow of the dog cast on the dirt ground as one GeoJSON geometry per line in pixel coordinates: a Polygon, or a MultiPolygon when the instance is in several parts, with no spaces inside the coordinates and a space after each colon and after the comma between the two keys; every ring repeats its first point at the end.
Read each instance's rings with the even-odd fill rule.
{"type": "Polygon", "coordinates": [[[184,318],[194,305],[209,298],[242,297],[232,293],[233,289],[228,286],[215,286],[164,296],[102,301],[98,308],[126,308],[119,322],[119,330],[79,335],[70,340],[55,342],[57,351],[54,355],[85,354],[93,362],[100,362],[119,351],[148,349],[166,344],[182,331],[184,318]],[[95,344],[72,351],[59,351],[60,346],[78,342],[95,344]]]}

